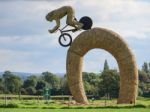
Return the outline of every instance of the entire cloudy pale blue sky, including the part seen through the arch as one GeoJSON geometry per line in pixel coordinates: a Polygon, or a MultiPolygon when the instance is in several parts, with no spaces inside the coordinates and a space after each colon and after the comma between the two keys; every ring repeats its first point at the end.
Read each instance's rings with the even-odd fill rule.
{"type": "MultiPolygon", "coordinates": [[[[149,0],[0,0],[0,71],[66,72],[68,47],[59,45],[60,32],[48,33],[55,23],[45,19],[47,13],[65,5],[75,9],[78,20],[89,16],[93,28],[107,28],[121,35],[139,68],[150,62],[149,0]]],[[[65,20],[61,20],[61,27],[65,20]]],[[[81,32],[70,34],[75,39],[81,32]]],[[[112,69],[118,68],[110,53],[94,49],[84,56],[83,71],[102,71],[106,59],[112,69]]]]}

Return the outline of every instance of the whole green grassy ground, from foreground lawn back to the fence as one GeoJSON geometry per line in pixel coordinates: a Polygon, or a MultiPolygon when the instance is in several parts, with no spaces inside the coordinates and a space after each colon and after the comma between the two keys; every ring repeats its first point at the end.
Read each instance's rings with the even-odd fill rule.
{"type": "MultiPolygon", "coordinates": [[[[25,96],[28,97],[28,96],[25,96]]],[[[31,96],[30,96],[31,97],[31,96]]],[[[136,104],[117,104],[117,100],[89,100],[89,105],[73,104],[68,100],[0,99],[0,112],[150,112],[150,98],[138,98],[136,104]]]]}

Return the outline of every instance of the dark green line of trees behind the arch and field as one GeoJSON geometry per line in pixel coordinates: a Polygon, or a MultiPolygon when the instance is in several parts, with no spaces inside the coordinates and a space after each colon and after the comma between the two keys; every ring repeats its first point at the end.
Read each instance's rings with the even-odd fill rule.
{"type": "MultiPolygon", "coordinates": [[[[150,97],[150,63],[144,62],[139,70],[139,96],[150,97]]],[[[105,60],[100,73],[83,72],[84,88],[87,96],[117,98],[119,93],[119,72],[110,69],[105,60]]],[[[22,80],[10,71],[0,77],[1,94],[43,95],[44,88],[51,89],[51,95],[70,95],[67,76],[57,76],[43,72],[40,76],[31,75],[22,80]]]]}

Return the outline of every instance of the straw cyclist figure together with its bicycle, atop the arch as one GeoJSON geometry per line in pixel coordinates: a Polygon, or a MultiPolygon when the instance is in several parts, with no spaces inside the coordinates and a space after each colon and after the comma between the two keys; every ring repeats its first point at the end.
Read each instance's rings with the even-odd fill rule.
{"type": "Polygon", "coordinates": [[[67,32],[76,32],[81,29],[83,30],[89,30],[92,27],[92,19],[90,17],[84,16],[82,17],[79,21],[74,16],[74,9],[70,6],[63,6],[59,9],[53,10],[50,13],[46,15],[46,20],[47,21],[56,21],[56,26],[49,30],[50,33],[54,33],[57,30],[60,31],[61,35],[59,36],[58,42],[61,46],[63,47],[68,47],[72,43],[72,37],[69,33],[67,32]],[[63,18],[64,16],[67,15],[67,20],[66,20],[66,26],[63,27],[62,29],[59,29],[60,27],[60,19],[63,18]],[[65,30],[67,26],[72,26],[74,27],[73,29],[65,30]]]}

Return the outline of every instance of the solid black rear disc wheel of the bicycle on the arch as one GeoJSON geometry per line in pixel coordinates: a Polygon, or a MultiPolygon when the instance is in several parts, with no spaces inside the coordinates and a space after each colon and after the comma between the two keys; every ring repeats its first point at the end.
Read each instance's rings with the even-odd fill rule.
{"type": "Polygon", "coordinates": [[[80,20],[79,20],[80,23],[83,24],[83,27],[82,29],[84,30],[89,30],[91,29],[92,25],[93,25],[93,22],[92,22],[92,19],[88,16],[84,16],[82,17],[80,20]]]}

